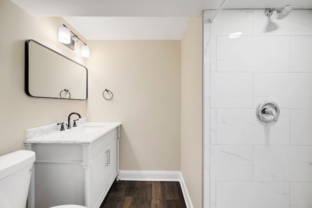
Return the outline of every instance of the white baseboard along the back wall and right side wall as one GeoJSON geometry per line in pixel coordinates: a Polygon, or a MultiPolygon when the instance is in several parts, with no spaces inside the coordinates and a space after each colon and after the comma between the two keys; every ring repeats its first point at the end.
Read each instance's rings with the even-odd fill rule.
{"type": "Polygon", "coordinates": [[[118,178],[121,181],[178,181],[180,183],[185,205],[193,208],[183,176],[180,171],[131,171],[120,170],[118,178]]]}

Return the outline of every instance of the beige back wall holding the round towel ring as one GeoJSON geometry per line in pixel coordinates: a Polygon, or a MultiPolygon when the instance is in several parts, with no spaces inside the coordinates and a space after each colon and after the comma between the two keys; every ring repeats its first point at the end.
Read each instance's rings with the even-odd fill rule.
{"type": "Polygon", "coordinates": [[[88,121],[121,122],[120,170],[180,170],[180,41],[89,41],[88,121]],[[109,89],[114,99],[102,93],[109,89]]]}

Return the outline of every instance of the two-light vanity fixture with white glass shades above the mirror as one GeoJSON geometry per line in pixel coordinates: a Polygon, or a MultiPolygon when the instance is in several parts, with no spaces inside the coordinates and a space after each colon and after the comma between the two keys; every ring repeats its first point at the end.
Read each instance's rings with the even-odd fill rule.
{"type": "MultiPolygon", "coordinates": [[[[65,24],[63,24],[63,27],[59,27],[59,42],[66,45],[68,48],[75,50],[75,42],[79,40],[83,42],[83,40],[73,33],[65,24]],[[71,36],[71,33],[73,36],[71,36]]],[[[90,48],[85,42],[83,42],[83,44],[84,45],[81,46],[81,56],[88,58],[90,57],[90,48]]]]}

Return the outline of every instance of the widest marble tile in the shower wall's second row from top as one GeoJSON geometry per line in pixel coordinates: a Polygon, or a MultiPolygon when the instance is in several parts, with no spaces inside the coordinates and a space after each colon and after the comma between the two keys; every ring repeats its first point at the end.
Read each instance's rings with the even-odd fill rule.
{"type": "Polygon", "coordinates": [[[216,42],[217,72],[290,71],[290,37],[218,36],[216,42]]]}

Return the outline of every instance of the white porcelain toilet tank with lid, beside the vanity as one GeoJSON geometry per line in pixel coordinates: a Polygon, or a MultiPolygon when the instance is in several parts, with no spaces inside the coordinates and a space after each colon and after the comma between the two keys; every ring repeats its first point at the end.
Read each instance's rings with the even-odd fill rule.
{"type": "Polygon", "coordinates": [[[0,208],[25,208],[35,152],[0,156],[0,208]]]}

